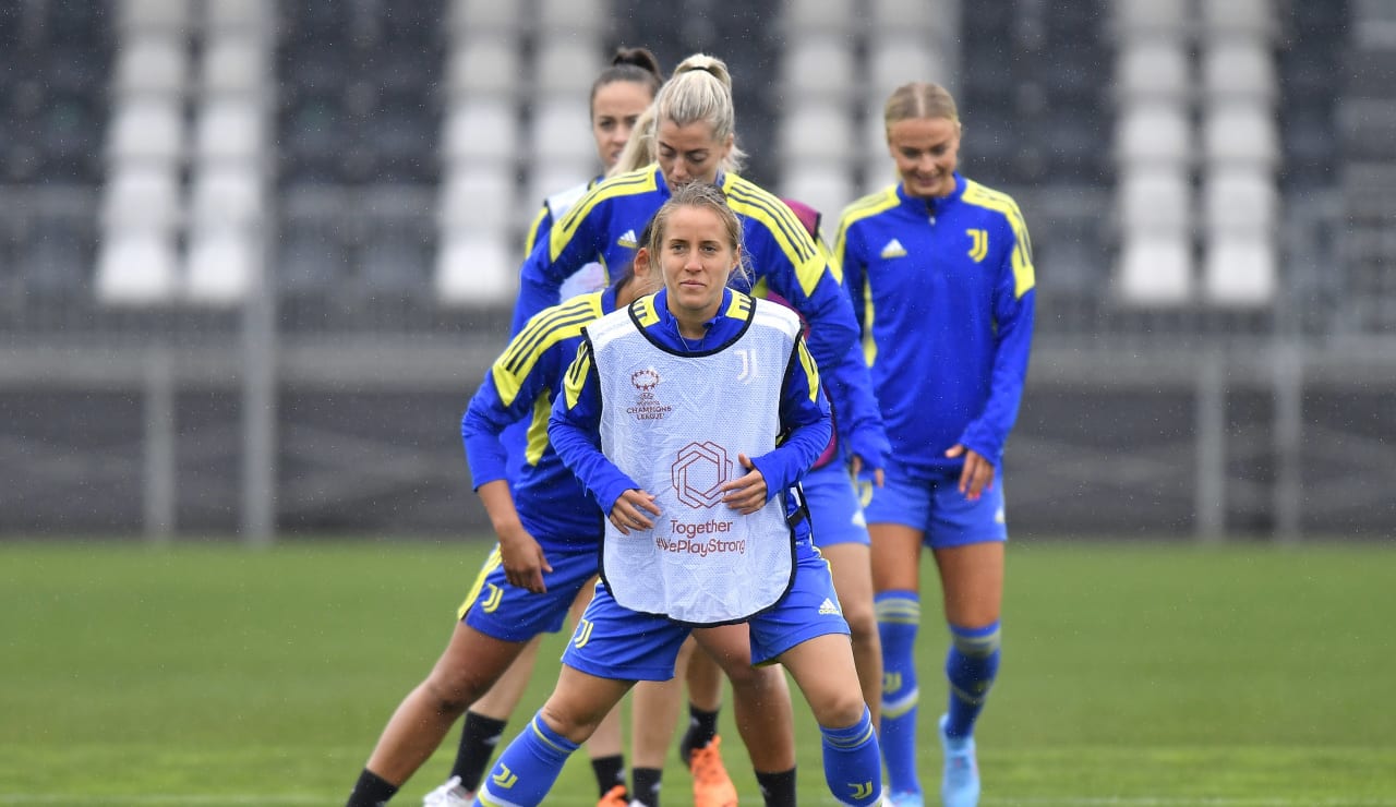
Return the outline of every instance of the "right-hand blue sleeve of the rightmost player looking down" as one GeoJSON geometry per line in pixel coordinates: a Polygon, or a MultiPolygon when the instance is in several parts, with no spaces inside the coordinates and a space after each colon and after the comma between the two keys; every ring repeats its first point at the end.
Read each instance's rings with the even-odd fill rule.
{"type": "Polygon", "coordinates": [[[1027,378],[1027,355],[1032,349],[1037,300],[1037,292],[1032,288],[1019,293],[1011,258],[1005,258],[1004,264],[994,290],[997,346],[988,401],[984,412],[960,434],[960,444],[973,448],[994,465],[1002,462],[1008,433],[1018,419],[1018,405],[1027,378]]]}

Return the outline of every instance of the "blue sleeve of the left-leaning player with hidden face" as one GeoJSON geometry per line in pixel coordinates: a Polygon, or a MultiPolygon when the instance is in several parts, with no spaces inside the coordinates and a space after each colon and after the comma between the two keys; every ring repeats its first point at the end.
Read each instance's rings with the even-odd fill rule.
{"type": "Polygon", "coordinates": [[[505,356],[514,348],[515,342],[510,342],[504,353],[494,360],[480,388],[470,398],[465,415],[461,416],[461,441],[465,444],[470,482],[476,490],[487,482],[508,477],[508,451],[500,436],[511,423],[528,417],[533,404],[549,394],[550,380],[557,377],[557,367],[561,363],[558,349],[554,346],[543,352],[519,377],[510,371],[505,362],[505,356]],[[500,394],[501,387],[515,390],[508,401],[500,394]]]}

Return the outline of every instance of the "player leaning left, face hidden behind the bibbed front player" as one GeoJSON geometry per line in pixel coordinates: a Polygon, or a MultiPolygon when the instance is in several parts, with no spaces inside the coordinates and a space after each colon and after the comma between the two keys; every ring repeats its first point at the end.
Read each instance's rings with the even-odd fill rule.
{"type": "MultiPolygon", "coordinates": [[[[529,417],[543,430],[582,325],[624,307],[658,279],[638,261],[632,272],[610,289],[542,311],[510,342],[470,399],[462,440],[475,489],[500,542],[461,606],[441,659],[388,720],[349,807],[387,803],[526,644],[561,628],[570,605],[595,578],[596,505],[551,445],[540,445],[536,461],[511,473],[503,434],[529,417]]],[[[443,797],[459,799],[455,793],[443,797]]]]}

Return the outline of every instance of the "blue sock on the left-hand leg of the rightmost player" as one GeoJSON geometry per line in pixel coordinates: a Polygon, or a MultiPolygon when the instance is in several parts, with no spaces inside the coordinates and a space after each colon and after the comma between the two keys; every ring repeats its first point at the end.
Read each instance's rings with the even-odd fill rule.
{"type": "Polygon", "coordinates": [[[910,591],[888,591],[874,598],[877,630],[882,638],[882,760],[893,793],[920,793],[916,776],[916,631],[921,625],[921,598],[910,591]]]}

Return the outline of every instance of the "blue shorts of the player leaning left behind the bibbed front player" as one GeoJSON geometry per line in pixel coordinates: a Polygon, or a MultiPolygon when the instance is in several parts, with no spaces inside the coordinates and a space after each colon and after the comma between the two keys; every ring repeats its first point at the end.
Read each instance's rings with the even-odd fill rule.
{"type": "Polygon", "coordinates": [[[505,642],[526,642],[537,634],[557,632],[563,630],[577,592],[596,574],[599,561],[600,550],[595,546],[549,549],[547,563],[553,571],[543,574],[547,591],[532,593],[510,585],[496,546],[456,616],[482,634],[505,642]]]}

